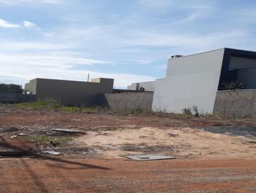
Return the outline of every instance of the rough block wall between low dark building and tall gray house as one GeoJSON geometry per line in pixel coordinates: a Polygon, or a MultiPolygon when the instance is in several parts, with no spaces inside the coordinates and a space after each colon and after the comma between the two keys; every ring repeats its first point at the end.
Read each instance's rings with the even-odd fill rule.
{"type": "Polygon", "coordinates": [[[154,92],[104,94],[105,104],[114,111],[151,112],[154,92]]]}

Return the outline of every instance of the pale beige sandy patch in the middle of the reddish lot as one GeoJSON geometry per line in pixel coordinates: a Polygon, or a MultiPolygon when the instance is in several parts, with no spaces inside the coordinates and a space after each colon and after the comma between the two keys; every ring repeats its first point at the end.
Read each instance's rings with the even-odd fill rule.
{"type": "Polygon", "coordinates": [[[120,128],[88,131],[76,143],[95,148],[106,158],[129,154],[163,153],[176,157],[255,158],[256,144],[246,137],[213,134],[193,128],[120,128]]]}

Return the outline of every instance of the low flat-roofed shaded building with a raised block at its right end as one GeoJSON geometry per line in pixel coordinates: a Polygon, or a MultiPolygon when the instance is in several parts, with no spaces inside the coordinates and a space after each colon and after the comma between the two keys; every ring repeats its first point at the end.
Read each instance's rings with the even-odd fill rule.
{"type": "Polygon", "coordinates": [[[113,79],[93,79],[92,82],[34,79],[26,84],[25,90],[33,88],[33,93],[36,91],[36,98],[57,98],[65,105],[90,106],[95,105],[95,96],[98,94],[113,92],[113,81],[113,79]]]}

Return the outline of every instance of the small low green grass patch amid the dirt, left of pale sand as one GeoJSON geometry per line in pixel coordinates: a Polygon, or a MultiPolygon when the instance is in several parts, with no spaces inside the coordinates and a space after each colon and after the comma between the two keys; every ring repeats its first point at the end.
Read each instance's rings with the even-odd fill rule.
{"type": "Polygon", "coordinates": [[[60,144],[72,141],[72,137],[51,136],[51,135],[28,135],[24,137],[26,141],[32,141],[40,144],[60,144]]]}

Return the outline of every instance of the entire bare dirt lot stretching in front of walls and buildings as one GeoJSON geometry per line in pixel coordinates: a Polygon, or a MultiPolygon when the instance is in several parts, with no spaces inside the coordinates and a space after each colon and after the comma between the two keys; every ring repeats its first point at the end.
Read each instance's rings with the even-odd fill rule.
{"type": "Polygon", "coordinates": [[[0,192],[256,192],[255,123],[174,115],[4,111],[0,147],[29,155],[0,158],[0,192]],[[54,134],[54,128],[83,133],[54,134]],[[10,138],[13,135],[17,137],[10,138]],[[42,153],[46,150],[61,155],[42,153]],[[125,158],[142,153],[176,159],[125,158]]]}

